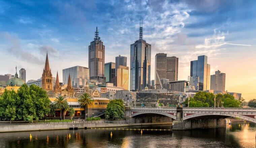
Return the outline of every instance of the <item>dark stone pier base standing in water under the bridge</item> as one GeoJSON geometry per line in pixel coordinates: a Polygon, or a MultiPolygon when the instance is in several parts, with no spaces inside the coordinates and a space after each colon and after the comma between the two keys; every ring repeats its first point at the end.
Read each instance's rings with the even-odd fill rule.
{"type": "Polygon", "coordinates": [[[173,130],[219,127],[226,127],[226,119],[176,119],[172,124],[173,130]]]}

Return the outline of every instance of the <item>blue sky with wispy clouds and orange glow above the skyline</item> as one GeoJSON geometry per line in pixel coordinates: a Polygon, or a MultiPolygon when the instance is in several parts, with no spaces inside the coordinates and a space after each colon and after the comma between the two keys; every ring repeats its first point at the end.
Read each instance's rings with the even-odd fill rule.
{"type": "Polygon", "coordinates": [[[211,74],[226,73],[226,90],[256,99],[256,1],[253,0],[0,0],[0,74],[26,69],[39,79],[46,52],[55,77],[62,69],[88,67],[88,46],[98,27],[105,63],[127,57],[130,44],[152,45],[151,79],[156,53],[179,58],[179,80],[190,75],[190,61],[206,55],[211,74]]]}

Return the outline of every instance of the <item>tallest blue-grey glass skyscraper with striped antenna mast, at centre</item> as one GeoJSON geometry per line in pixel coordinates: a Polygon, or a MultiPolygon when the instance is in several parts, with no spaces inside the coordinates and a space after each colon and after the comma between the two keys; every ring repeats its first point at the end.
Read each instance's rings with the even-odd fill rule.
{"type": "Polygon", "coordinates": [[[142,39],[142,23],[139,40],[131,44],[130,90],[143,90],[150,87],[151,44],[142,39]]]}

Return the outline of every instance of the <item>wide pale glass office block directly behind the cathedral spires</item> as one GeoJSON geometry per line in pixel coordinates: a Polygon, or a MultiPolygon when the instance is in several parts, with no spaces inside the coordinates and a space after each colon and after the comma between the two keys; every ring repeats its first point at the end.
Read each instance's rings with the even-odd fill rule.
{"type": "Polygon", "coordinates": [[[70,75],[71,85],[73,88],[85,86],[90,79],[89,68],[83,66],[74,66],[62,70],[62,82],[68,84],[68,77],[70,75]]]}

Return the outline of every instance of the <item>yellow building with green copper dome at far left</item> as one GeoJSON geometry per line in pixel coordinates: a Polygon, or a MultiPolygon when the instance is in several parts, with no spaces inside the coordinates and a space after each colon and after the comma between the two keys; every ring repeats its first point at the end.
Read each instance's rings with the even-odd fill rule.
{"type": "Polygon", "coordinates": [[[18,91],[18,89],[24,84],[24,80],[18,77],[17,74],[17,68],[16,68],[16,73],[15,76],[13,78],[10,78],[7,82],[6,82],[6,87],[5,88],[0,88],[0,95],[2,95],[4,93],[4,90],[14,90],[15,92],[18,91]]]}

